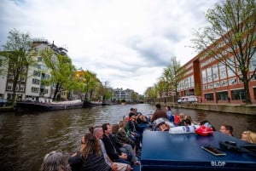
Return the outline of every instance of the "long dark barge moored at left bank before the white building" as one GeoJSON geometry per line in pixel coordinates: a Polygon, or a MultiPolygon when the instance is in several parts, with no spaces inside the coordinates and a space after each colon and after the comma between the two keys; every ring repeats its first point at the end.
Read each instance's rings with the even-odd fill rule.
{"type": "Polygon", "coordinates": [[[71,100],[60,102],[35,102],[35,101],[18,101],[15,105],[16,111],[57,111],[68,109],[79,109],[84,105],[84,101],[71,100]]]}

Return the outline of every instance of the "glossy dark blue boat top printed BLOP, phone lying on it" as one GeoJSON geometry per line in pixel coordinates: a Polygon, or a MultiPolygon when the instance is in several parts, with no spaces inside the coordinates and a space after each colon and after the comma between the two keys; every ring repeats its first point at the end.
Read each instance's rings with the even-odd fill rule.
{"type": "Polygon", "coordinates": [[[208,136],[144,131],[140,170],[255,170],[255,147],[218,131],[208,136]],[[223,147],[223,142],[235,144],[236,151],[223,147]],[[217,148],[224,155],[214,156],[202,148],[205,146],[217,148]],[[248,152],[248,146],[254,150],[248,152]]]}

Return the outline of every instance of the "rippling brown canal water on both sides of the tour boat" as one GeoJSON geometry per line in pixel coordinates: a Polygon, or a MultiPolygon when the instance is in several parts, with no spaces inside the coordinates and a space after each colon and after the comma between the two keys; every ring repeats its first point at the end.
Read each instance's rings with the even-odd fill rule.
{"type": "MultiPolygon", "coordinates": [[[[0,113],[0,170],[37,171],[49,151],[71,155],[79,150],[81,136],[92,125],[119,123],[130,108],[145,115],[154,111],[154,105],[106,105],[89,109],[48,111],[36,113],[0,113]]],[[[214,111],[172,109],[183,112],[195,121],[209,120],[215,128],[230,124],[234,135],[241,137],[244,130],[256,131],[256,117],[214,111]]]]}

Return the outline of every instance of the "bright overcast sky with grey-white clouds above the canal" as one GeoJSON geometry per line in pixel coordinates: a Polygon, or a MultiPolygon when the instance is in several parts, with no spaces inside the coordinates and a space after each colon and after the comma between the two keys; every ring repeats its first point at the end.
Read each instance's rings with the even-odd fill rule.
{"type": "Polygon", "coordinates": [[[218,0],[0,0],[0,44],[16,29],[68,50],[77,68],[143,94],[173,56],[195,57],[193,30],[218,0]]]}

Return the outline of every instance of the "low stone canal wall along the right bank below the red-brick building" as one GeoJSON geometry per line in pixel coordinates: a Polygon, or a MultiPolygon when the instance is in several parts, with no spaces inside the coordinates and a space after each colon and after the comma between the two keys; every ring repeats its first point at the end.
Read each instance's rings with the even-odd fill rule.
{"type": "Polygon", "coordinates": [[[232,105],[232,104],[177,104],[173,102],[159,102],[160,105],[170,105],[176,108],[187,108],[195,110],[205,110],[205,111],[221,111],[221,112],[230,112],[230,113],[239,113],[246,115],[255,115],[256,116],[256,105],[232,105]]]}

